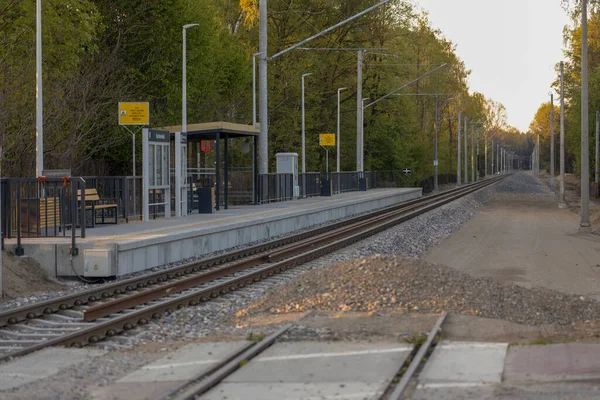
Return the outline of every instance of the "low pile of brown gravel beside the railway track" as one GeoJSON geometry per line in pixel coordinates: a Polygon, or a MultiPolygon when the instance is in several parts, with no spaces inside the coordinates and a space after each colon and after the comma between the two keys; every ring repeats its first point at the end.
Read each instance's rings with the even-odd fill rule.
{"type": "Polygon", "coordinates": [[[415,259],[376,256],[306,272],[246,308],[243,315],[289,312],[452,312],[520,324],[599,320],[597,301],[475,278],[415,259]]]}

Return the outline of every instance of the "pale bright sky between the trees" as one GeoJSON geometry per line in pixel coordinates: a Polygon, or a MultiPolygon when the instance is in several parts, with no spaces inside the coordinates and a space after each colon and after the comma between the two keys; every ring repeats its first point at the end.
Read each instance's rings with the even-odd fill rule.
{"type": "Polygon", "coordinates": [[[414,0],[456,44],[471,92],[504,104],[508,123],[526,132],[549,101],[569,24],[560,0],[414,0]]]}

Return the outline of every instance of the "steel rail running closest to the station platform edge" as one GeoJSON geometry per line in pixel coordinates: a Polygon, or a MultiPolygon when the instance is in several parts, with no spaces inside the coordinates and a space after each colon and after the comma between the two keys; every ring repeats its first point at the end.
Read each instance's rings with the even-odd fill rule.
{"type": "MultiPolygon", "coordinates": [[[[493,178],[492,178],[493,179],[493,178]]],[[[481,181],[480,181],[481,182],[481,181]]],[[[483,181],[486,182],[486,181],[483,181]]],[[[163,282],[167,282],[173,279],[181,278],[185,275],[190,275],[197,273],[201,270],[211,268],[217,265],[221,265],[227,262],[231,262],[234,260],[238,260],[240,258],[249,257],[251,255],[259,254],[277,247],[285,246],[289,243],[294,243],[299,240],[303,240],[309,238],[311,236],[319,235],[321,233],[329,232],[332,229],[337,229],[342,226],[348,226],[357,223],[358,221],[367,220],[372,218],[375,215],[382,215],[388,213],[390,211],[404,208],[410,205],[416,205],[424,201],[424,199],[432,199],[432,198],[440,198],[442,196],[449,195],[451,193],[457,193],[461,190],[464,190],[467,187],[471,187],[472,185],[477,185],[478,183],[473,183],[469,186],[463,186],[460,188],[448,190],[445,192],[425,196],[419,199],[411,200],[399,205],[394,205],[391,207],[386,207],[381,210],[377,210],[371,213],[363,214],[357,217],[349,218],[345,221],[336,222],[333,224],[329,224],[324,227],[315,228],[311,230],[307,230],[306,232],[302,232],[296,235],[290,235],[285,238],[276,239],[273,241],[269,241],[266,243],[261,243],[254,246],[249,246],[244,249],[235,250],[232,252],[228,252],[226,254],[206,258],[199,261],[194,261],[191,263],[187,263],[181,266],[165,269],[162,271],[157,271],[153,273],[146,274],[140,277],[134,277],[125,279],[119,282],[115,282],[112,284],[106,284],[99,288],[93,288],[89,290],[84,290],[78,293],[73,293],[66,296],[61,296],[56,299],[45,300],[42,302],[37,302],[34,304],[14,308],[11,310],[6,310],[0,312],[0,327],[6,325],[13,325],[21,321],[25,321],[28,319],[38,318],[43,315],[52,314],[61,310],[67,310],[72,307],[78,307],[89,303],[94,303],[96,301],[102,299],[108,299],[114,296],[119,296],[122,294],[126,294],[128,292],[133,292],[136,290],[140,290],[146,288],[148,286],[160,284],[163,282]]]]}

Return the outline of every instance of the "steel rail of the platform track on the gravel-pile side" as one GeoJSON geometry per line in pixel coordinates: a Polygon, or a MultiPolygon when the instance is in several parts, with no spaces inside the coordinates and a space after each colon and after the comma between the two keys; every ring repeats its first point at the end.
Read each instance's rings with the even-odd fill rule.
{"type": "Polygon", "coordinates": [[[160,319],[163,314],[170,314],[176,309],[184,308],[186,306],[196,306],[200,302],[209,301],[211,298],[216,298],[220,295],[235,291],[236,289],[245,287],[254,282],[258,282],[261,279],[266,279],[273,276],[276,273],[285,271],[293,268],[299,264],[303,264],[307,261],[321,257],[338,248],[348,246],[349,244],[360,241],[366,237],[372,236],[376,233],[384,231],[393,225],[404,222],[418,215],[424,214],[444,204],[452,202],[462,196],[480,190],[481,188],[498,182],[505,176],[492,178],[486,181],[480,181],[477,184],[472,184],[469,187],[461,188],[460,193],[456,193],[454,196],[448,196],[442,200],[429,204],[425,207],[421,207],[418,210],[410,211],[406,214],[400,215],[396,218],[387,219],[383,223],[364,229],[358,233],[354,233],[350,236],[342,239],[326,243],[320,247],[316,247],[309,251],[304,251],[293,257],[289,257],[283,261],[270,263],[265,267],[254,269],[253,271],[242,274],[241,276],[231,278],[224,282],[214,283],[208,287],[201,288],[198,290],[191,291],[190,293],[182,293],[181,295],[169,299],[166,298],[163,301],[156,302],[156,304],[149,304],[140,310],[134,310],[128,313],[123,313],[109,318],[107,320],[99,320],[97,324],[94,324],[87,328],[82,328],[76,332],[56,337],[44,342],[37,343],[30,347],[19,349],[12,353],[6,354],[0,357],[0,361],[19,357],[37,350],[40,350],[49,346],[57,345],[70,345],[75,347],[81,347],[87,343],[96,343],[105,337],[112,337],[120,332],[128,331],[133,329],[136,325],[145,325],[150,319],[160,319]]]}

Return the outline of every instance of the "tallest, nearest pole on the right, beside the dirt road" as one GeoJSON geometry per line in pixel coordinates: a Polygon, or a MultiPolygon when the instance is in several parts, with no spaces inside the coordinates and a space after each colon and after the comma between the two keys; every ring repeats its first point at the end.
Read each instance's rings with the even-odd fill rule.
{"type": "Polygon", "coordinates": [[[581,2],[581,221],[579,232],[592,231],[590,224],[590,158],[588,155],[588,27],[587,2],[581,2]]]}

